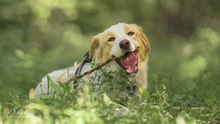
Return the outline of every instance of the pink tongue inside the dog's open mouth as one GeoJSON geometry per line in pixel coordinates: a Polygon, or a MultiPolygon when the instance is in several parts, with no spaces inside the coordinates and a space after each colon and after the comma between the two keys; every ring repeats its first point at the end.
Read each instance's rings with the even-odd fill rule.
{"type": "Polygon", "coordinates": [[[122,65],[129,72],[134,72],[137,65],[137,52],[127,53],[121,58],[122,65]]]}

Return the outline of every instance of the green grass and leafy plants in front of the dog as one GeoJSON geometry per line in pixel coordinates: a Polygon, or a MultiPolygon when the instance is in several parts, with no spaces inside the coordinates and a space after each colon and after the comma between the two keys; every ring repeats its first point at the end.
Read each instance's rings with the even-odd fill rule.
{"type": "MultiPolygon", "coordinates": [[[[175,85],[172,77],[158,75],[149,78],[149,88],[139,89],[141,98],[128,95],[124,87],[131,86],[124,73],[105,72],[106,78],[98,75],[85,80],[73,92],[69,85],[51,85],[55,95],[34,99],[34,90],[29,96],[12,96],[1,99],[0,121],[11,123],[146,123],[146,124],[194,124],[219,123],[220,93],[216,75],[209,71],[175,85]],[[116,74],[109,78],[109,74],[116,74]],[[99,80],[100,87],[91,82],[99,80]],[[106,84],[105,82],[110,82],[106,84]],[[114,85],[117,82],[117,85],[114,85]],[[128,83],[126,83],[128,82],[128,83]],[[204,83],[206,82],[206,83],[204,83]],[[181,87],[181,88],[180,88],[181,87]],[[178,90],[175,90],[178,88],[178,90]],[[99,91],[98,94],[95,91],[99,91]],[[122,97],[119,92],[124,92],[122,97]]],[[[49,78],[49,77],[48,77],[49,78]]],[[[50,82],[49,82],[50,83],[50,82]]]]}

